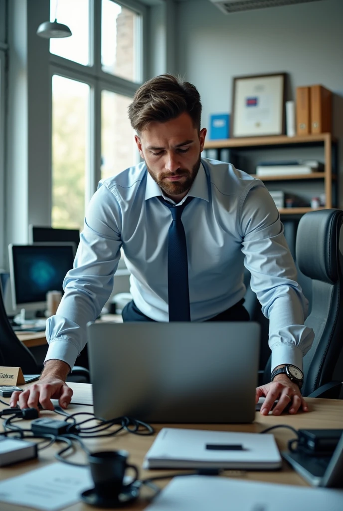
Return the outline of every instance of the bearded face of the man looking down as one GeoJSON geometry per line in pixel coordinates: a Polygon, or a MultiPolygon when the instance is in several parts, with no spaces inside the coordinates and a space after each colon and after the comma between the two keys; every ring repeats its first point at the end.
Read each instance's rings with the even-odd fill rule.
{"type": "Polygon", "coordinates": [[[165,123],[152,122],[135,140],[149,174],[165,195],[181,200],[200,167],[206,129],[194,128],[188,113],[165,123]]]}

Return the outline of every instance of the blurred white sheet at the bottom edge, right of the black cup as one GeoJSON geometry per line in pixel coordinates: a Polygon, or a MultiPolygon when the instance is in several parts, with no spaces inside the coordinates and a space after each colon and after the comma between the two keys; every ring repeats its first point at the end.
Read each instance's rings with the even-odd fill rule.
{"type": "MultiPolygon", "coordinates": [[[[263,435],[261,435],[263,436],[263,435]]],[[[341,511],[343,491],[225,477],[175,477],[146,511],[341,511]]]]}

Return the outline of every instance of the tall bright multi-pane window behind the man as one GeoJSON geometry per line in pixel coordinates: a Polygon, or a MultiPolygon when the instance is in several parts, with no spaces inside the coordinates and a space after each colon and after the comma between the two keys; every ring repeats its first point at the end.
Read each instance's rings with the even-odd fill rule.
{"type": "Polygon", "coordinates": [[[83,226],[97,182],[135,165],[128,106],[144,80],[145,7],[134,0],[51,0],[52,225],[83,226]]]}

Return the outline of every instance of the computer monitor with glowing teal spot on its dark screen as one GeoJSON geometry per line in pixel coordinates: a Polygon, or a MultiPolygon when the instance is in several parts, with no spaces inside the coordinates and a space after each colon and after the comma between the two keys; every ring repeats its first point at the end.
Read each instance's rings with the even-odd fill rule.
{"type": "Polygon", "coordinates": [[[74,243],[9,245],[13,308],[44,310],[46,293],[62,291],[74,263],[74,243]]]}

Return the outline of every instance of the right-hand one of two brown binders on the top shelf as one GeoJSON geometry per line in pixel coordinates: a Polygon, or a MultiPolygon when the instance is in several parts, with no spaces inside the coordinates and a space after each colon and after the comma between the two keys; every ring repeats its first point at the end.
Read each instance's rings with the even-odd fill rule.
{"type": "Polygon", "coordinates": [[[323,85],[312,85],[311,133],[331,133],[332,92],[323,85]]]}

